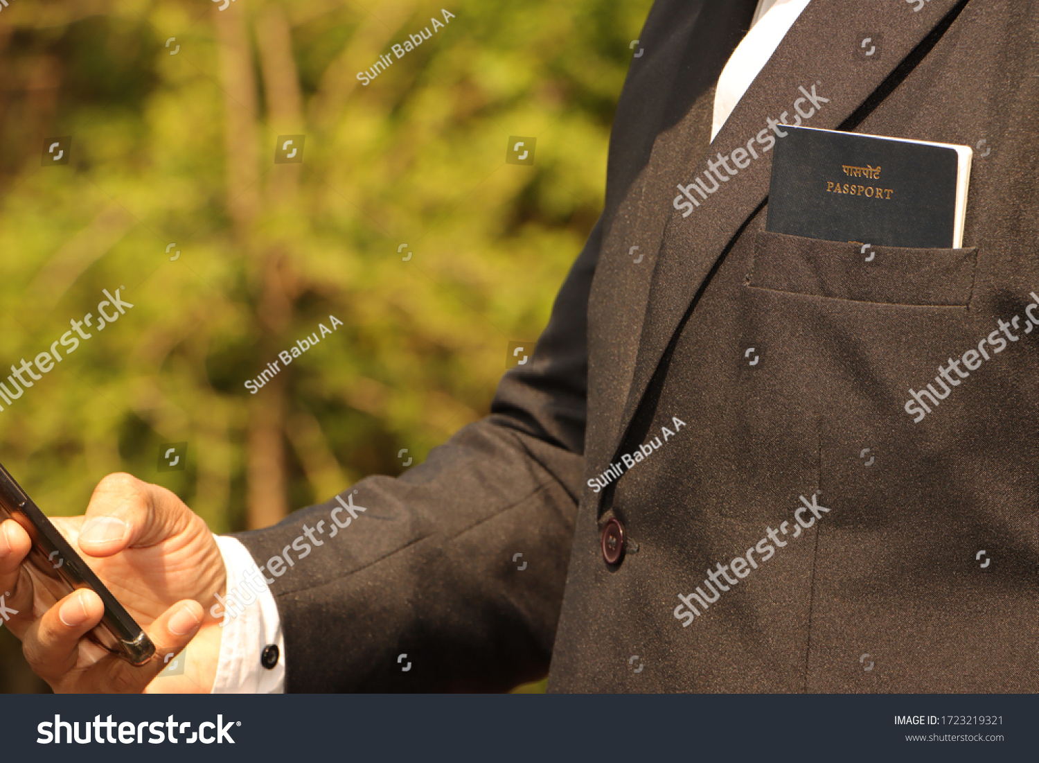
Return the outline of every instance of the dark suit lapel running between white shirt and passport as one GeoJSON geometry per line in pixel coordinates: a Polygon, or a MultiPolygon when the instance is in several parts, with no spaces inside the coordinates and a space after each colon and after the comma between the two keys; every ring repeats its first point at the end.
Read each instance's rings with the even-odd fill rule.
{"type": "MultiPolygon", "coordinates": [[[[708,152],[676,179],[686,186],[695,178],[703,178],[710,172],[709,162],[717,162],[718,154],[731,156],[740,148],[746,151],[748,141],[769,127],[767,120],[781,121],[783,112],[788,113],[789,124],[840,127],[949,14],[958,12],[966,2],[812,0],[708,152]],[[914,10],[917,3],[918,11],[914,10]],[[869,59],[856,50],[861,38],[871,34],[880,42],[878,59],[869,59]],[[798,116],[795,104],[801,116],[798,116]]],[[[755,143],[756,148],[760,146],[755,143]]],[[[768,196],[771,154],[758,155],[761,158],[750,159],[749,166],[739,168],[732,177],[719,168],[728,180],[716,179],[718,190],[707,199],[690,189],[700,206],[689,217],[683,218],[678,211],[670,215],[654,270],[634,376],[617,432],[619,440],[611,451],[614,458],[625,445],[635,412],[683,316],[712,268],[768,196]]],[[[737,168],[731,160],[729,166],[737,168]]],[[[677,188],[674,193],[678,193],[677,188]]]]}

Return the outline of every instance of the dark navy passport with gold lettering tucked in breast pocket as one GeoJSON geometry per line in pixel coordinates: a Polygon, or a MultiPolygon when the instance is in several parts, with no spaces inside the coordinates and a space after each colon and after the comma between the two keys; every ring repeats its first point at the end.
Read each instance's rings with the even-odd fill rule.
{"type": "Polygon", "coordinates": [[[876,246],[959,248],[974,152],[810,127],[779,128],[765,230],[876,246]]]}

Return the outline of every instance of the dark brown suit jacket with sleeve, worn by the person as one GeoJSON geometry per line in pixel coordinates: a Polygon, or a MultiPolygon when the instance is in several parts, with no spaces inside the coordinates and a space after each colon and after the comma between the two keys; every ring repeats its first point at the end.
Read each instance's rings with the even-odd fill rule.
{"type": "MultiPolygon", "coordinates": [[[[814,0],[709,148],[755,4],[656,3],[532,362],[272,586],[288,690],[501,690],[550,658],[555,691],[1039,689],[1039,5],[814,0]],[[770,119],[978,147],[965,248],[764,233],[770,119]],[[684,216],[719,154],[746,164],[684,216]],[[914,422],[909,391],[1015,315],[914,422]],[[795,537],[802,496],[829,512],[795,537]],[[744,576],[680,619],[718,563],[744,576]]],[[[240,537],[265,560],[334,505],[240,537]]]]}

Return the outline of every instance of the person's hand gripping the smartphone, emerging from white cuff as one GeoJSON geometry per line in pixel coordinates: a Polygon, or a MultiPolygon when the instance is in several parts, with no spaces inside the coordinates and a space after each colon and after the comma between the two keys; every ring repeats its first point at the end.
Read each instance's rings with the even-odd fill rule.
{"type": "Polygon", "coordinates": [[[104,614],[82,588],[48,607],[22,561],[30,540],[14,520],[0,524],[0,593],[6,625],[33,672],[55,692],[206,692],[220,653],[219,619],[209,613],[227,588],[219,547],[206,523],[174,493],[129,474],[98,484],[83,517],[51,520],[145,630],[155,657],[131,665],[83,638],[104,614]],[[167,655],[187,659],[183,676],[156,678],[167,655]]]}

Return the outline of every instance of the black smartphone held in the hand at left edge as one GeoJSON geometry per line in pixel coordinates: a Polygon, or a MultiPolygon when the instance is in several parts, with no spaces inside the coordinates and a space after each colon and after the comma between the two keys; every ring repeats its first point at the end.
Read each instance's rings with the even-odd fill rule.
{"type": "Polygon", "coordinates": [[[22,565],[44,604],[51,607],[78,588],[90,588],[104,602],[105,614],[85,637],[133,665],[152,659],[152,639],[0,464],[0,521],[7,519],[32,538],[22,565]]]}

